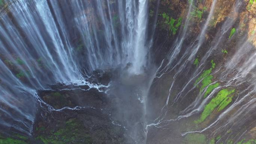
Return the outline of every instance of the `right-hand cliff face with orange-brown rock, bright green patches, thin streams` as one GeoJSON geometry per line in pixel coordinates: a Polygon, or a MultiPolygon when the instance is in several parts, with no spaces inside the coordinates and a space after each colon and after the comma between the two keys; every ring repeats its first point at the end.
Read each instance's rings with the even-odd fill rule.
{"type": "Polygon", "coordinates": [[[256,143],[255,4],[159,1],[147,143],[256,143]]]}

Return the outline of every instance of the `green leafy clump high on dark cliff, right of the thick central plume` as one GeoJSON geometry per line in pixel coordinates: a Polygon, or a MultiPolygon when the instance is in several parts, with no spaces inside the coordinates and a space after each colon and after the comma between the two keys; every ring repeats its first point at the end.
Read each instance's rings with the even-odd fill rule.
{"type": "Polygon", "coordinates": [[[168,25],[169,30],[173,35],[177,33],[178,28],[182,24],[182,18],[174,19],[170,18],[167,13],[162,13],[162,18],[164,19],[164,23],[168,25]]]}

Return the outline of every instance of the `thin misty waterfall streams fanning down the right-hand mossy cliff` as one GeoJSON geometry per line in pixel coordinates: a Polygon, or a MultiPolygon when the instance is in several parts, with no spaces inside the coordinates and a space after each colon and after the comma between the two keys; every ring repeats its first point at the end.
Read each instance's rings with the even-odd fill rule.
{"type": "MultiPolygon", "coordinates": [[[[255,120],[250,121],[255,117],[253,109],[256,104],[255,96],[253,96],[255,95],[255,45],[252,45],[255,34],[253,33],[250,37],[247,37],[246,34],[242,36],[243,30],[240,30],[242,24],[239,26],[235,24],[241,18],[241,16],[239,17],[239,12],[241,12],[244,3],[238,0],[231,4],[232,6],[225,19],[219,23],[218,28],[214,29],[211,23],[218,15],[218,10],[216,9],[219,8],[217,6],[221,2],[217,0],[210,2],[211,4],[207,7],[208,10],[204,15],[204,19],[199,21],[200,31],[192,32],[196,29],[194,24],[199,25],[198,19],[192,18],[193,12],[198,9],[196,4],[205,3],[189,1],[185,15],[186,19],[183,20],[184,28],[174,38],[173,43],[166,42],[170,46],[170,51],[166,58],[162,59],[156,71],[155,80],[151,88],[157,90],[152,91],[151,93],[153,94],[149,94],[150,98],[148,98],[152,101],[149,102],[148,108],[155,102],[158,102],[159,106],[150,109],[155,111],[155,115],[152,116],[151,121],[146,126],[147,131],[149,129],[152,131],[151,134],[148,133],[147,138],[149,138],[149,135],[152,136],[154,132],[158,132],[158,129],[171,129],[168,132],[154,135],[154,137],[172,137],[177,133],[177,137],[179,137],[179,134],[182,137],[186,137],[188,134],[206,135],[207,132],[212,132],[210,134],[211,138],[225,134],[222,136],[222,140],[228,141],[232,137],[238,142],[247,132],[247,129],[240,130],[240,128],[255,122],[255,120]],[[232,28],[239,30],[236,37],[229,36],[232,28]],[[214,30],[216,32],[213,32],[214,30]],[[196,33],[196,35],[190,36],[193,33],[196,33]],[[213,34],[212,39],[208,39],[211,34],[213,34]],[[238,39],[237,37],[240,38],[238,39]],[[186,40],[190,41],[186,42],[186,40]],[[232,46],[231,43],[233,44],[232,46]],[[228,55],[220,54],[221,52],[223,53],[223,49],[227,48],[231,51],[228,52],[228,55]],[[223,60],[220,60],[221,58],[223,60]],[[195,64],[196,59],[200,59],[198,65],[195,64]],[[210,71],[212,71],[210,75],[215,79],[214,81],[210,80],[210,83],[203,87],[205,81],[202,81],[204,78],[200,79],[198,83],[196,80],[205,71],[209,70],[209,64],[213,60],[220,62],[217,68],[215,68],[215,63],[213,64],[214,67],[210,67],[210,71]],[[207,63],[209,64],[207,65],[207,63]],[[209,94],[205,94],[208,88],[216,83],[218,83],[218,86],[212,89],[209,94]],[[166,90],[163,91],[162,87],[166,88],[166,90]],[[197,89],[200,87],[202,89],[198,92],[197,89]],[[216,98],[216,95],[222,89],[231,88],[236,89],[232,102],[223,110],[214,110],[213,114],[209,114],[207,121],[205,120],[206,122],[202,123],[202,125],[200,125],[201,123],[196,123],[198,117],[205,112],[205,108],[209,108],[212,99],[216,98]],[[189,128],[180,128],[183,125],[187,127],[188,125],[195,125],[195,123],[196,127],[199,127],[191,127],[191,131],[188,130],[189,128]],[[241,134],[241,137],[235,138],[232,134],[227,134],[226,131],[231,131],[231,129],[234,131],[233,135],[241,134]]],[[[216,63],[216,65],[218,64],[216,63]]],[[[155,143],[164,143],[168,140],[170,143],[173,142],[171,138],[168,140],[151,138],[147,143],[151,144],[151,141],[154,140],[158,141],[155,143]]]]}

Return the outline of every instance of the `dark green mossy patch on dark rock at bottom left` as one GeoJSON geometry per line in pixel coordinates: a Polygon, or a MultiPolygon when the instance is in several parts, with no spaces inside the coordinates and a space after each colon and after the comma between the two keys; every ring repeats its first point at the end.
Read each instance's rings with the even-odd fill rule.
{"type": "Polygon", "coordinates": [[[77,119],[69,119],[64,126],[57,130],[52,130],[51,134],[45,134],[41,129],[37,129],[42,135],[37,137],[44,144],[92,144],[92,139],[86,134],[82,123],[77,119]]]}

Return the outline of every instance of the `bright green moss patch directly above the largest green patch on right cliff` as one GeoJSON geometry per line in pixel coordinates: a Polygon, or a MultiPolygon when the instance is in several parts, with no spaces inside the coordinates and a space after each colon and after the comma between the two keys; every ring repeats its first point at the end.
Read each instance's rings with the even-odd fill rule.
{"type": "MultiPolygon", "coordinates": [[[[210,85],[212,83],[211,80],[213,79],[213,76],[210,75],[210,74],[211,74],[212,69],[215,68],[215,65],[216,64],[214,63],[214,61],[211,60],[211,68],[208,69],[208,70],[203,71],[201,76],[199,76],[198,79],[196,79],[194,85],[197,85],[198,82],[200,82],[200,81],[201,81],[201,84],[202,84],[201,87],[200,87],[200,93],[204,90],[205,87],[207,87],[208,85],[210,85]]],[[[199,86],[197,85],[197,87],[199,87],[199,86]]],[[[210,91],[210,88],[209,88],[208,92],[211,92],[211,91],[210,91]]]]}

